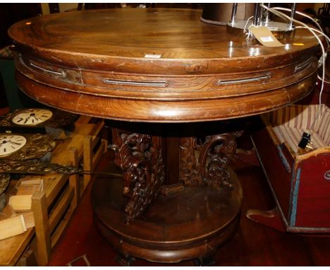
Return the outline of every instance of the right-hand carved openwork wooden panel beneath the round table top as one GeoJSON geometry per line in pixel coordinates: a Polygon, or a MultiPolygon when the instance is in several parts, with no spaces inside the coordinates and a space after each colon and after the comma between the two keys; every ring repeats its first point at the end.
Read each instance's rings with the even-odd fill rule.
{"type": "Polygon", "coordinates": [[[181,138],[180,177],[185,185],[232,187],[227,170],[236,152],[236,137],[243,131],[206,136],[204,141],[194,137],[181,138]]]}

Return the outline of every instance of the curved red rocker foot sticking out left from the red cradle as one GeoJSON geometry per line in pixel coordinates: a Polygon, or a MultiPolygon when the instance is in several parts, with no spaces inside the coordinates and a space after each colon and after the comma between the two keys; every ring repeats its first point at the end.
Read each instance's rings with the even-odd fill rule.
{"type": "Polygon", "coordinates": [[[286,232],[286,228],[283,225],[283,221],[277,207],[269,211],[249,209],[246,212],[246,216],[251,221],[266,225],[267,227],[279,230],[281,232],[286,232]]]}

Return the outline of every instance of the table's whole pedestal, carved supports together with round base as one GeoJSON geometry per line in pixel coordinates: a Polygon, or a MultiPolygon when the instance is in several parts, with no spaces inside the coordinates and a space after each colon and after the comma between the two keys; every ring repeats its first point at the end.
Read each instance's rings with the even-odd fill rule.
{"type": "Polygon", "coordinates": [[[161,136],[113,129],[123,178],[99,178],[92,187],[99,233],[127,259],[203,259],[239,224],[242,189],[227,165],[240,132],[178,137],[186,127],[177,125],[176,134],[168,127],[161,136]]]}

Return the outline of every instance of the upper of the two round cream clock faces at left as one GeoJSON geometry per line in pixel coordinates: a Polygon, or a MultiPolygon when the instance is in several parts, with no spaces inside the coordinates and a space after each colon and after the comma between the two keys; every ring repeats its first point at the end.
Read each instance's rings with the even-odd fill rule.
{"type": "Polygon", "coordinates": [[[34,126],[41,124],[51,118],[53,113],[44,109],[27,109],[13,117],[13,123],[23,126],[34,126]]]}

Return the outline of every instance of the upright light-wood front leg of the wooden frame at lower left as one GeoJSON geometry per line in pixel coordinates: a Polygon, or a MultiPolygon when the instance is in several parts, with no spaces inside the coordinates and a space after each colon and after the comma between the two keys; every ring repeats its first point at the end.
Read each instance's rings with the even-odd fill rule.
{"type": "Polygon", "coordinates": [[[32,209],[35,218],[37,259],[39,266],[46,266],[51,256],[51,238],[49,232],[46,194],[44,194],[44,192],[35,192],[32,196],[32,209]]]}

